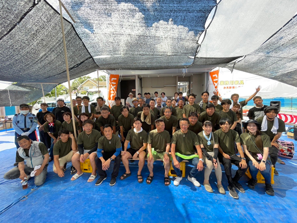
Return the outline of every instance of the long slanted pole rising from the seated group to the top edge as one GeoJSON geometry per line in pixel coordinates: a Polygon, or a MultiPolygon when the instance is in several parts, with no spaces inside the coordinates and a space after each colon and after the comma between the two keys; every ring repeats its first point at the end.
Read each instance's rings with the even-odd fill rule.
{"type": "Polygon", "coordinates": [[[59,7],[60,7],[61,28],[62,28],[62,36],[63,36],[65,63],[66,63],[66,73],[67,73],[67,80],[68,80],[68,87],[69,87],[70,106],[71,106],[71,113],[72,113],[73,132],[74,132],[75,139],[77,139],[76,127],[75,127],[75,118],[74,118],[75,114],[74,114],[74,109],[73,109],[73,104],[72,104],[72,91],[71,91],[71,85],[70,85],[69,67],[68,67],[66,41],[65,41],[65,33],[64,33],[63,15],[62,15],[62,2],[60,0],[59,0],[59,7]]]}

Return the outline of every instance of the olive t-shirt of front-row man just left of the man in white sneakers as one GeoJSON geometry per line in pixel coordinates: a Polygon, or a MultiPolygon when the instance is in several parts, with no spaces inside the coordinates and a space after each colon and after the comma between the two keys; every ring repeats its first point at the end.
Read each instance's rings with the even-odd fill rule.
{"type": "Polygon", "coordinates": [[[148,144],[151,144],[151,148],[157,153],[166,152],[166,144],[170,143],[169,132],[164,130],[160,133],[157,129],[154,129],[148,133],[148,144]]]}

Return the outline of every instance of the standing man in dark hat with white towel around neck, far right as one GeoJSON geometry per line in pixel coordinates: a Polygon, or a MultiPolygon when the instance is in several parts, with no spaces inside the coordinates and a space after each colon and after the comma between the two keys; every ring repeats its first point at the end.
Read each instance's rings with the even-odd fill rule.
{"type": "MultiPolygon", "coordinates": [[[[285,122],[277,117],[278,109],[275,106],[268,106],[264,109],[264,116],[257,118],[257,122],[261,124],[261,132],[269,136],[271,147],[269,147],[270,160],[275,167],[278,159],[279,144],[277,140],[282,136],[282,132],[286,131],[285,122]]],[[[274,174],[278,175],[278,171],[274,169],[274,174]]]]}

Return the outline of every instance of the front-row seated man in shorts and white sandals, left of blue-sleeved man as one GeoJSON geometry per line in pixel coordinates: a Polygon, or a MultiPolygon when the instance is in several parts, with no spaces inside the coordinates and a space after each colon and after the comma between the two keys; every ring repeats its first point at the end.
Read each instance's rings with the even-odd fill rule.
{"type": "Polygon", "coordinates": [[[92,119],[85,120],[83,122],[84,131],[78,134],[78,152],[72,156],[72,165],[77,170],[77,173],[71,177],[71,180],[76,180],[84,173],[81,170],[80,163],[84,163],[88,158],[93,170],[88,182],[93,182],[97,177],[95,158],[97,157],[96,151],[101,134],[96,129],[93,129],[94,124],[92,119]]]}

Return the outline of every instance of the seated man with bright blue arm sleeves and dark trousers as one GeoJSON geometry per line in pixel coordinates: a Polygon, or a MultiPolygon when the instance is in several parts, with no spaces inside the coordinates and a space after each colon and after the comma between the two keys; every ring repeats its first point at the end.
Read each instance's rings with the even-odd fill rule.
{"type": "Polygon", "coordinates": [[[112,126],[106,124],[103,127],[104,136],[99,139],[96,165],[100,178],[96,182],[96,186],[100,185],[106,179],[106,172],[111,161],[114,161],[113,171],[109,185],[113,186],[116,183],[116,177],[119,174],[122,151],[121,140],[118,136],[112,134],[112,126]],[[103,150],[103,153],[102,153],[103,150]]]}

